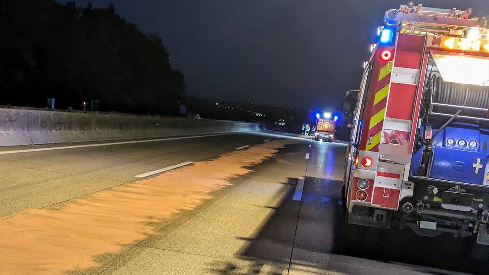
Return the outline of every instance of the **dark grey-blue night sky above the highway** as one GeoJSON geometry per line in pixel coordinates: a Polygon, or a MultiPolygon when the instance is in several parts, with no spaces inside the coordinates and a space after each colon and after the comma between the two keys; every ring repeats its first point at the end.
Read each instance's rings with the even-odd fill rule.
{"type": "MultiPolygon", "coordinates": [[[[69,0],[59,0],[65,3],[69,0]]],[[[78,0],[86,6],[89,0],[78,0]]],[[[334,107],[358,89],[385,10],[399,0],[92,0],[111,2],[144,33],[162,38],[172,67],[197,97],[296,107],[334,107]],[[137,2],[137,3],[136,3],[137,2]]],[[[418,4],[418,2],[415,2],[418,4]]],[[[424,6],[486,16],[486,0],[424,6]]]]}

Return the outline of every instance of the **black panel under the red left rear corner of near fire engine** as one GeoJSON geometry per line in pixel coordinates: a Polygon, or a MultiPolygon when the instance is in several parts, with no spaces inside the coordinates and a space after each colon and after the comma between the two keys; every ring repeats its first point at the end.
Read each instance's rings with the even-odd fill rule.
{"type": "Polygon", "coordinates": [[[352,206],[352,212],[348,215],[348,223],[378,227],[378,228],[389,228],[392,221],[392,211],[378,209],[367,206],[352,206]]]}

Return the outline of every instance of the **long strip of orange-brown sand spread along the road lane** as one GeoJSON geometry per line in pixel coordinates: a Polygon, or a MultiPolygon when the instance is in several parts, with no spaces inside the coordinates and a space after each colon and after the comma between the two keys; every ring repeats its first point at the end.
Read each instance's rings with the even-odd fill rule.
{"type": "Polygon", "coordinates": [[[0,274],[63,274],[96,267],[95,255],[119,252],[122,245],[155,234],[150,222],[194,209],[288,143],[255,145],[0,221],[0,274]]]}

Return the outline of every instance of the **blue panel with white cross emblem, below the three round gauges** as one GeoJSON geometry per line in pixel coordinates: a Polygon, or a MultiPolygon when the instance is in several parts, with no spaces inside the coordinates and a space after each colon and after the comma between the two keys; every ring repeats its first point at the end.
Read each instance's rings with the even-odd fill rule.
{"type": "Polygon", "coordinates": [[[486,176],[486,152],[433,148],[430,178],[482,185],[486,176]]]}

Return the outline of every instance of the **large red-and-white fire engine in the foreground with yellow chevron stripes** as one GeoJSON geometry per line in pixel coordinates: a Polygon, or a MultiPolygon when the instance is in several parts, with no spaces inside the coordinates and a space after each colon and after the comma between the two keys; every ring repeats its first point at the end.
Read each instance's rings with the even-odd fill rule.
{"type": "Polygon", "coordinates": [[[471,14],[385,12],[347,147],[349,223],[489,245],[489,29],[471,14]]]}

